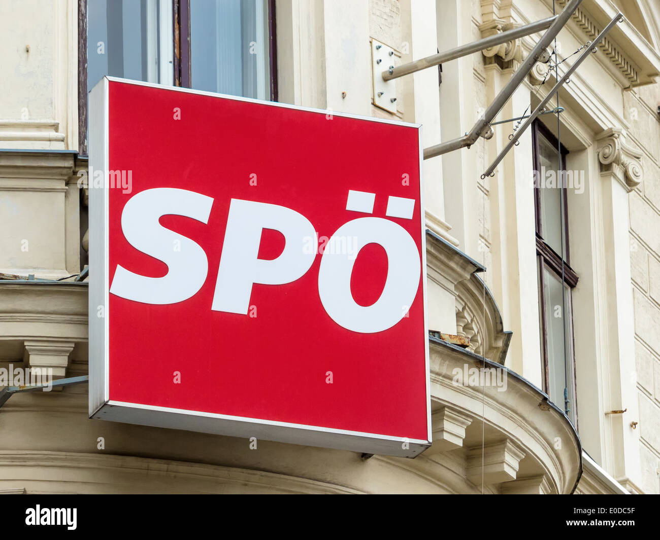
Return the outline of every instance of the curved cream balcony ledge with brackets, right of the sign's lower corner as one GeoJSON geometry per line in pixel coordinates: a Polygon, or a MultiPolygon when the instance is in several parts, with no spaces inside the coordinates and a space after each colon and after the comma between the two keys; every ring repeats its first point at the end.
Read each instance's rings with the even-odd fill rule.
{"type": "Polygon", "coordinates": [[[430,369],[434,441],[423,456],[459,460],[465,477],[490,493],[574,492],[582,472],[578,433],[545,393],[436,338],[430,369]]]}

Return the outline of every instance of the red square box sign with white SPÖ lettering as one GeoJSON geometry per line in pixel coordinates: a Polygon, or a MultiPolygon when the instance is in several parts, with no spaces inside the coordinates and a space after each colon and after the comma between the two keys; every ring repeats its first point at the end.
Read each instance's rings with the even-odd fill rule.
{"type": "Polygon", "coordinates": [[[430,444],[420,127],[104,78],[90,417],[430,444]]]}

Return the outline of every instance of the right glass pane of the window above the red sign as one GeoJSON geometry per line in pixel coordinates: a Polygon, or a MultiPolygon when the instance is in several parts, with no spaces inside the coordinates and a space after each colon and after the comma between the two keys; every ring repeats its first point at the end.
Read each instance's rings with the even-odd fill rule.
{"type": "Polygon", "coordinates": [[[191,87],[269,100],[265,0],[191,0],[191,87]]]}

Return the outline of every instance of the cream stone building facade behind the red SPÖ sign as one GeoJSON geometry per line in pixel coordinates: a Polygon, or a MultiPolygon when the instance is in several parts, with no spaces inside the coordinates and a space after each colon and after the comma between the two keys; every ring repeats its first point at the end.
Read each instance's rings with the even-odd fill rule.
{"type": "MultiPolygon", "coordinates": [[[[419,123],[430,147],[471,129],[541,34],[397,78],[384,101],[376,45],[397,66],[566,4],[0,3],[0,368],[88,374],[86,100],[102,76],[419,123]]],[[[583,0],[496,120],[529,114],[618,11],[493,176],[517,120],[424,160],[426,452],[88,419],[83,383],[3,402],[0,492],[660,493],[660,6],[583,0]]]]}

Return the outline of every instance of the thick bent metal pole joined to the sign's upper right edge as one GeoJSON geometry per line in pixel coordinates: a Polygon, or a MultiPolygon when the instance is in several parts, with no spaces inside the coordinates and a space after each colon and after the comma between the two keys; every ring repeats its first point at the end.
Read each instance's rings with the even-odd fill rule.
{"type": "Polygon", "coordinates": [[[441,142],[435,146],[430,146],[429,148],[424,148],[424,159],[434,158],[435,156],[440,156],[451,152],[451,150],[457,150],[457,148],[463,148],[463,146],[471,146],[477,142],[479,136],[482,133],[485,133],[490,129],[490,123],[500,112],[500,109],[504,107],[504,104],[508,102],[509,98],[512,96],[515,89],[519,86],[523,79],[534,67],[535,63],[541,58],[541,55],[547,49],[548,45],[552,43],[552,40],[559,34],[560,30],[564,27],[564,24],[568,22],[568,19],[571,18],[573,12],[576,11],[577,7],[582,3],[582,0],[570,0],[566,5],[562,13],[557,15],[554,22],[550,25],[550,28],[546,30],[545,34],[541,36],[541,40],[534,46],[527,58],[521,63],[520,67],[513,73],[512,77],[509,79],[509,82],[506,83],[504,88],[500,90],[500,93],[495,97],[493,102],[488,105],[488,109],[484,112],[482,117],[477,120],[477,123],[474,127],[466,133],[464,136],[449,140],[447,142],[441,142]]]}

